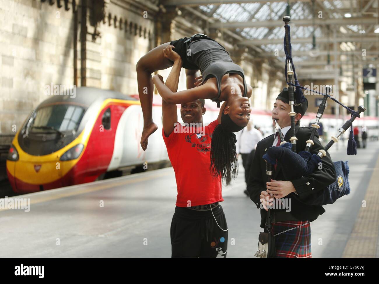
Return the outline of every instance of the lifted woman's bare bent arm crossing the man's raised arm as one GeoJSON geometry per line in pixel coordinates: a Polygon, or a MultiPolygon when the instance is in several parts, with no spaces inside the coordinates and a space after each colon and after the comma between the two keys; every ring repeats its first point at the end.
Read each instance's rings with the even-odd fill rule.
{"type": "Polygon", "coordinates": [[[153,83],[157,87],[158,93],[168,104],[182,104],[196,99],[211,99],[218,94],[217,87],[213,84],[204,84],[175,93],[163,84],[158,75],[153,76],[153,83]]]}

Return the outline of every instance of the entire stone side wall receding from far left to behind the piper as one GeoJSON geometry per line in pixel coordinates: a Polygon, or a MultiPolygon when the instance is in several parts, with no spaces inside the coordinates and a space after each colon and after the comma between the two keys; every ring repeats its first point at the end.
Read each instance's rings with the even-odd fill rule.
{"type": "MultiPolygon", "coordinates": [[[[0,135],[18,130],[47,98],[46,85],[138,93],[136,63],[141,56],[157,44],[204,32],[177,9],[161,10],[154,3],[0,0],[0,135]]],[[[254,62],[234,43],[216,39],[244,69],[247,84],[255,86],[252,105],[271,109],[282,81],[269,64],[254,62]]],[[[170,70],[159,73],[167,78],[170,70]]],[[[182,70],[179,90],[186,88],[185,79],[182,70]]]]}

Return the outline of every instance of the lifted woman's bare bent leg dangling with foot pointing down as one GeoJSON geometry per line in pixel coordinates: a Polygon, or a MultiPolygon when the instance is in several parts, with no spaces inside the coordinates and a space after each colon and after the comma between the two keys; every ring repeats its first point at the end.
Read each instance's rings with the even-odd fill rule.
{"type": "Polygon", "coordinates": [[[141,137],[141,147],[143,151],[147,148],[147,140],[149,139],[149,136],[158,129],[157,124],[153,122],[152,116],[154,85],[151,73],[172,66],[172,63],[163,56],[163,48],[167,47],[169,44],[169,42],[166,42],[153,48],[139,59],[136,66],[138,94],[139,100],[141,101],[144,122],[141,137]]]}

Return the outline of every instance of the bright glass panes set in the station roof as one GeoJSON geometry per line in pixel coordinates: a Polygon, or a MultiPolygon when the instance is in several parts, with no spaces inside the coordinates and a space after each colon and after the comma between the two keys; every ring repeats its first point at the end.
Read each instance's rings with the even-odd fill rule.
{"type": "MultiPolygon", "coordinates": [[[[316,2],[315,6],[315,21],[318,16],[317,11],[319,9],[327,9],[329,13],[329,18],[334,17],[335,19],[341,19],[344,16],[341,15],[340,9],[345,9],[350,7],[350,0],[319,0],[316,2]],[[322,7],[321,7],[322,6],[322,7]]],[[[290,15],[291,20],[296,22],[299,19],[309,19],[312,24],[312,3],[308,2],[291,2],[290,3],[290,15]]],[[[278,1],[278,2],[266,2],[266,3],[230,3],[230,4],[221,4],[221,5],[200,5],[199,9],[202,12],[208,13],[213,19],[219,20],[222,23],[226,22],[260,22],[260,21],[269,21],[269,20],[281,20],[282,16],[286,14],[287,2],[278,1]],[[212,15],[209,13],[213,12],[212,15]]],[[[359,26],[357,25],[348,25],[348,30],[358,32],[359,26]]],[[[317,39],[321,37],[327,37],[327,34],[324,34],[326,28],[321,28],[316,26],[315,36],[316,36],[316,45],[317,39]]],[[[238,28],[230,29],[234,33],[251,40],[259,39],[283,39],[284,36],[284,25],[275,26],[275,27],[254,27],[254,28],[238,28]]],[[[291,37],[296,38],[310,38],[312,39],[313,26],[298,26],[296,25],[292,29],[291,37]]],[[[274,52],[276,49],[282,50],[283,44],[267,44],[257,46],[266,52],[274,52]]],[[[309,43],[304,44],[292,44],[292,49],[294,54],[297,50],[307,51],[312,48],[312,40],[309,43]]],[[[298,57],[299,60],[306,59],[307,56],[298,57]]],[[[284,59],[284,58],[283,58],[284,59]]]]}

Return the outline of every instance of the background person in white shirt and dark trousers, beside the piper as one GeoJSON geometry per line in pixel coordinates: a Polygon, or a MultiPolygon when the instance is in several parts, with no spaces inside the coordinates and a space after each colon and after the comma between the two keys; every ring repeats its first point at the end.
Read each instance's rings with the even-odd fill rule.
{"type": "MultiPolygon", "coordinates": [[[[252,160],[255,154],[255,147],[257,143],[263,139],[262,133],[255,129],[252,120],[250,119],[249,124],[239,132],[239,152],[242,156],[242,165],[245,169],[245,182],[249,180],[249,172],[252,160]]],[[[245,189],[244,193],[249,196],[249,192],[245,189]]]]}

